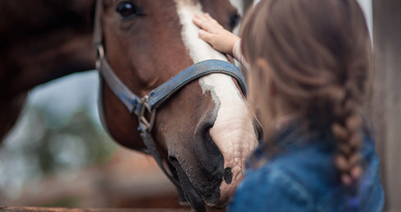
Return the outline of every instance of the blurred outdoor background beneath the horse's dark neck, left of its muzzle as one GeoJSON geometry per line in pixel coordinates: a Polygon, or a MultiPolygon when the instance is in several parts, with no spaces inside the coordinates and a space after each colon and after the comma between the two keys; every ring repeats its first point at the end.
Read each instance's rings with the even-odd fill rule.
{"type": "Polygon", "coordinates": [[[0,148],[0,205],[179,207],[153,157],[117,145],[102,129],[98,84],[89,71],[30,91],[0,148]]]}

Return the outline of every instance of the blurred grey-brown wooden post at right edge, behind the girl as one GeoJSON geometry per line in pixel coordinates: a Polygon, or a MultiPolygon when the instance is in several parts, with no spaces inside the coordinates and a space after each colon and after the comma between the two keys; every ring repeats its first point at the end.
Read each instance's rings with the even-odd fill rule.
{"type": "Polygon", "coordinates": [[[375,128],[385,211],[401,211],[401,1],[373,0],[375,74],[369,116],[375,128]]]}

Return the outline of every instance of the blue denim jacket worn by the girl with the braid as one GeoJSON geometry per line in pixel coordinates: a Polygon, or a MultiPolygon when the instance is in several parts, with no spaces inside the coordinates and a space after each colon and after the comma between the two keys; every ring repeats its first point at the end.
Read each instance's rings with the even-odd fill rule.
{"type": "MultiPolygon", "coordinates": [[[[334,167],[334,135],[312,130],[301,133],[300,125],[292,124],[275,142],[278,153],[262,167],[246,169],[246,177],[227,207],[230,212],[352,211],[346,204],[348,190],[334,167]]],[[[263,144],[251,158],[266,157],[262,149],[263,144]]],[[[358,211],[382,211],[384,193],[373,135],[363,133],[361,155],[364,172],[356,191],[361,200],[358,211]]]]}

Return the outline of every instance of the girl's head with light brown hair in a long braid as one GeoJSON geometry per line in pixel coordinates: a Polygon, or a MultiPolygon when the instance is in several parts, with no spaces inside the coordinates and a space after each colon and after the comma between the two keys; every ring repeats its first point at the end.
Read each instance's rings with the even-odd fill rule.
{"type": "Polygon", "coordinates": [[[370,38],[355,0],[262,0],[241,30],[251,102],[267,135],[278,110],[331,128],[345,184],[358,179],[370,38]],[[277,104],[277,102],[281,104],[277,104]]]}

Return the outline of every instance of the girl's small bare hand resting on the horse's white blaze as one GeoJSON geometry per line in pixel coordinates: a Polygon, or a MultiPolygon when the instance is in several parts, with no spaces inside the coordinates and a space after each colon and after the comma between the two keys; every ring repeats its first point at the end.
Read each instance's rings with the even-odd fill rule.
{"type": "Polygon", "coordinates": [[[216,50],[233,55],[234,44],[240,39],[238,36],[224,29],[209,13],[205,13],[204,16],[195,14],[192,21],[201,28],[199,38],[212,45],[216,50]]]}

